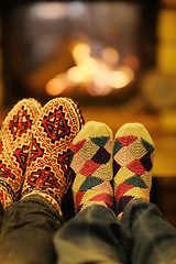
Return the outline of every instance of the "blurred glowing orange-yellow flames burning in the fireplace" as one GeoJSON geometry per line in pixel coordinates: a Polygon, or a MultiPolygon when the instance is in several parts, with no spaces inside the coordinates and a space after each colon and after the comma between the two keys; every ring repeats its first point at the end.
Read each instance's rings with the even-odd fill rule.
{"type": "Polygon", "coordinates": [[[97,58],[91,56],[90,46],[80,42],[74,45],[72,54],[76,66],[47,82],[48,95],[56,96],[68,87],[86,84],[90,95],[105,96],[112,88],[125,87],[134,78],[131,67],[114,67],[119,62],[119,53],[113,47],[103,48],[102,58],[97,58]]]}

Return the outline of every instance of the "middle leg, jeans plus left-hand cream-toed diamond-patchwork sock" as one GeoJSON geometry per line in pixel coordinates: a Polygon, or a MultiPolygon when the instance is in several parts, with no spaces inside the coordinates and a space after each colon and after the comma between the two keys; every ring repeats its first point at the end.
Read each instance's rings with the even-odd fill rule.
{"type": "Polygon", "coordinates": [[[58,263],[127,263],[123,245],[129,243],[128,235],[112,212],[111,152],[111,130],[94,121],[70,145],[77,215],[54,239],[58,263]]]}

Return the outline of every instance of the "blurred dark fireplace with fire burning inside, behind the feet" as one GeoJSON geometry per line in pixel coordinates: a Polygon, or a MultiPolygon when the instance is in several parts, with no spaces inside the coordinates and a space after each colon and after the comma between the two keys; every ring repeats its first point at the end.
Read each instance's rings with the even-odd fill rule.
{"type": "Polygon", "coordinates": [[[121,103],[155,64],[157,1],[14,2],[2,12],[6,102],[121,103]]]}

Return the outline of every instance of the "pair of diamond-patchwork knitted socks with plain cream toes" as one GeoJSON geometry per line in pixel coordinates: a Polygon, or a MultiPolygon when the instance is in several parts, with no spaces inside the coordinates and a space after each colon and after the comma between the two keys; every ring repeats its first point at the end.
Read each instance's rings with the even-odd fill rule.
{"type": "Polygon", "coordinates": [[[134,198],[150,201],[154,144],[140,123],[127,123],[116,133],[90,121],[70,145],[76,211],[102,205],[121,217],[134,198]]]}

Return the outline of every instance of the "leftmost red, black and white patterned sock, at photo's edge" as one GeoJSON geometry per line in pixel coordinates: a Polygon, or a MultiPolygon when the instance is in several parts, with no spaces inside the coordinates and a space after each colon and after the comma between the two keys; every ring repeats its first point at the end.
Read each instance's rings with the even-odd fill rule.
{"type": "Polygon", "coordinates": [[[4,118],[0,131],[0,201],[3,209],[18,199],[32,138],[31,127],[41,112],[35,99],[19,101],[4,118]]]}

